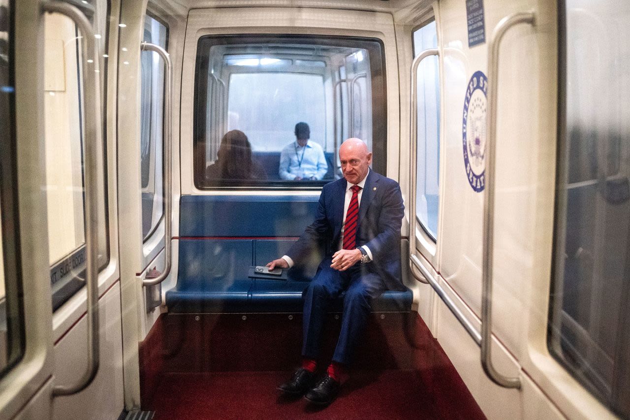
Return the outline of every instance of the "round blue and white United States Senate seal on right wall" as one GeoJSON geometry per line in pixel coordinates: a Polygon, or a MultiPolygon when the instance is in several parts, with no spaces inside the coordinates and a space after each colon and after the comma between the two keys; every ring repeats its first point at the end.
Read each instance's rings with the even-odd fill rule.
{"type": "Polygon", "coordinates": [[[466,86],[464,117],[462,119],[462,146],[464,167],[469,184],[476,192],[483,191],[486,184],[486,107],[488,78],[476,71],[466,86]]]}

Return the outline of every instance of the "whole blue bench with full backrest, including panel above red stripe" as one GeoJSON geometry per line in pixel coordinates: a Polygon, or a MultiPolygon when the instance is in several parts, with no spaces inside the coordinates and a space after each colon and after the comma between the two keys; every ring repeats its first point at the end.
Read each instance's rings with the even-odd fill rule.
{"type": "MultiPolygon", "coordinates": [[[[166,292],[172,313],[301,313],[302,291],[324,250],[288,279],[252,279],[251,265],[284,255],[314,217],[318,196],[183,195],[178,278],[166,292]]],[[[409,312],[411,291],[386,291],[374,312],[409,312]]],[[[331,312],[341,312],[340,297],[331,312]]]]}

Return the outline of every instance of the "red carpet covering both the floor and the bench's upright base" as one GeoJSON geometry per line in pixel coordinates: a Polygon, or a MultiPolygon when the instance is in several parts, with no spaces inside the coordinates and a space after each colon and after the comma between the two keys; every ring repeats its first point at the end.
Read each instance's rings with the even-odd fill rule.
{"type": "MultiPolygon", "coordinates": [[[[340,321],[328,319],[320,366],[340,321]]],[[[329,407],[276,390],[300,363],[301,315],[164,314],[140,345],[142,409],[156,420],[484,419],[418,313],[375,314],[329,407]]]]}

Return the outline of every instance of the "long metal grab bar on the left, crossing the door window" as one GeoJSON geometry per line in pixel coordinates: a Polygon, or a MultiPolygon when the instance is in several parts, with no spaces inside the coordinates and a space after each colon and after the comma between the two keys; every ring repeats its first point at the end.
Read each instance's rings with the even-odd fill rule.
{"type": "Polygon", "coordinates": [[[74,385],[57,385],[52,389],[53,397],[72,395],[81,392],[88,387],[98,373],[100,337],[98,323],[98,194],[96,160],[98,135],[101,130],[100,108],[96,102],[98,83],[98,57],[96,56],[95,32],[79,9],[62,1],[49,1],[42,3],[42,13],[60,13],[67,16],[79,28],[83,34],[85,48],[81,58],[83,59],[83,101],[85,121],[84,153],[84,177],[85,177],[85,247],[86,247],[86,320],[88,322],[88,366],[74,385]],[[92,62],[88,62],[92,60],[92,62]]]}

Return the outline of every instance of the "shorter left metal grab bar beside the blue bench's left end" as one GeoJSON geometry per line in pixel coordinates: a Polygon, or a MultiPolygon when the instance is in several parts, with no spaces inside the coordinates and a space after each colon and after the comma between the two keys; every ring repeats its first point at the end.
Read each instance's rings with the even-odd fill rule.
{"type": "Polygon", "coordinates": [[[142,286],[154,286],[162,283],[171,272],[171,218],[172,218],[172,175],[171,175],[171,149],[173,148],[173,66],[168,52],[159,45],[142,42],[140,50],[157,52],[164,61],[166,67],[164,95],[164,271],[152,279],[143,279],[142,286]]]}

